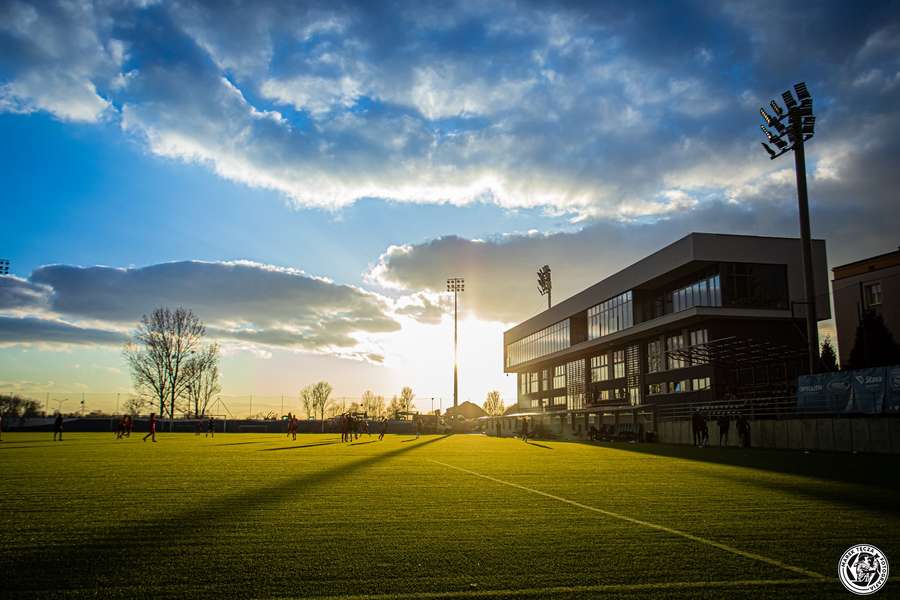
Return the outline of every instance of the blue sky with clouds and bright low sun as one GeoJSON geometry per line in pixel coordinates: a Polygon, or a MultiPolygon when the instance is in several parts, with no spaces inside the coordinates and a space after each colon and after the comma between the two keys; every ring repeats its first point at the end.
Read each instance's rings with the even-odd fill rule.
{"type": "MultiPolygon", "coordinates": [[[[897,2],[0,0],[0,392],[127,393],[183,305],[225,394],[514,401],[502,332],[692,231],[900,243],[897,2]]],[[[833,323],[823,322],[823,333],[833,323]]],[[[294,400],[291,400],[294,399],[294,400]]]]}

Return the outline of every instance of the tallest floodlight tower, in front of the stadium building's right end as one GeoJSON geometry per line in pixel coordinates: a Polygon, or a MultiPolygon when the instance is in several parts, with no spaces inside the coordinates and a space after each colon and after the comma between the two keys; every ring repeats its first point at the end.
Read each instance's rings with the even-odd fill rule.
{"type": "Polygon", "coordinates": [[[763,142],[762,146],[769,154],[769,158],[775,160],[782,154],[794,151],[794,168],[797,172],[797,200],[800,205],[800,248],[803,253],[803,282],[806,288],[806,343],[809,352],[809,372],[815,373],[819,366],[819,327],[816,323],[816,293],[813,288],[812,271],[812,242],[809,232],[809,198],[806,192],[806,154],[803,144],[815,134],[816,117],[812,111],[812,96],[802,81],[794,86],[797,98],[790,90],[781,95],[787,111],[772,100],[769,106],[775,115],[770,115],[765,108],[759,109],[766,125],[775,129],[772,133],[766,125],[760,125],[769,142],[775,146],[772,149],[769,144],[763,142]],[[799,100],[799,104],[797,103],[799,100]],[[785,126],[782,121],[787,122],[785,126]],[[787,137],[787,141],[782,139],[787,137]]]}

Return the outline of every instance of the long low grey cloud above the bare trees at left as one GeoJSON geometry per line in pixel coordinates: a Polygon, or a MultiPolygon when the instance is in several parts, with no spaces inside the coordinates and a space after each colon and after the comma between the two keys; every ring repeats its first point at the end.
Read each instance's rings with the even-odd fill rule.
{"type": "MultiPolygon", "coordinates": [[[[210,335],[251,344],[328,352],[356,349],[359,334],[397,331],[389,302],[352,286],[256,263],[175,262],[143,268],[51,265],[29,280],[0,279],[0,309],[46,311],[122,329],[159,306],[185,306],[209,325],[210,335]]],[[[28,327],[56,321],[21,321],[6,341],[28,327]]],[[[118,333],[69,326],[89,343],[118,343],[118,333]],[[98,337],[99,336],[99,337],[98,337]]],[[[75,342],[73,342],[75,343],[75,342]]],[[[87,342],[86,342],[87,343],[87,342]]]]}

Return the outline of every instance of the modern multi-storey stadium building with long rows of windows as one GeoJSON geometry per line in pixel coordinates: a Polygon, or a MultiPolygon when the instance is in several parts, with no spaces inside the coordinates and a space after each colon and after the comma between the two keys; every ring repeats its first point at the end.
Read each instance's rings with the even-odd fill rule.
{"type": "MultiPolygon", "coordinates": [[[[813,240],[817,317],[830,317],[813,240]]],[[[504,333],[520,414],[787,395],[807,362],[800,240],[692,233],[504,333]]]]}

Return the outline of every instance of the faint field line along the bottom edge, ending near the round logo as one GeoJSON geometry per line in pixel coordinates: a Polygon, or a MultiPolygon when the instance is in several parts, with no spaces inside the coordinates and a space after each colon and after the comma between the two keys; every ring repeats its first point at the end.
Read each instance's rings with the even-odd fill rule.
{"type": "Polygon", "coordinates": [[[452,592],[406,592],[392,594],[354,594],[350,596],[313,596],[311,600],[417,600],[425,598],[490,598],[500,596],[546,596],[548,594],[577,594],[588,592],[640,592],[642,590],[695,590],[728,589],[768,586],[822,585],[834,583],[824,579],[744,579],[734,581],[664,581],[659,583],[601,583],[596,585],[572,585],[544,588],[518,588],[508,590],[458,590],[452,592]]]}

